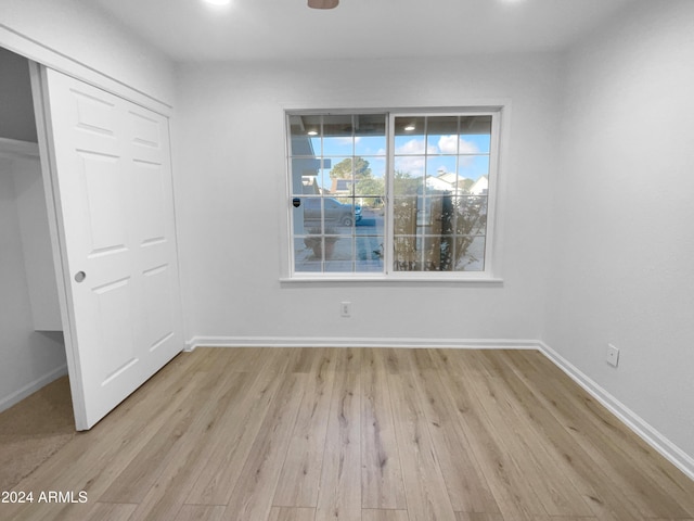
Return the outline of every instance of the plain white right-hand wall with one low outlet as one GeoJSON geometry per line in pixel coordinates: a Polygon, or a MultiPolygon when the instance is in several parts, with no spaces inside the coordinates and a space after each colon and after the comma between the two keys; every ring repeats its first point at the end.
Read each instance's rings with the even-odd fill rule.
{"type": "Polygon", "coordinates": [[[690,461],[693,35],[694,2],[644,1],[567,56],[543,333],[690,461]]]}

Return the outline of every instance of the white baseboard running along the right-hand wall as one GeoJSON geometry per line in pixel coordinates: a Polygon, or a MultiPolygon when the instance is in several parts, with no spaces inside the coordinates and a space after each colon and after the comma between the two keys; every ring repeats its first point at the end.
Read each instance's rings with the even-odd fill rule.
{"type": "Polygon", "coordinates": [[[694,458],[674,445],[660,432],[654,429],[643,418],[619,402],[596,382],[581,372],[576,366],[551,348],[544,342],[538,342],[538,348],[554,365],[562,369],[571,380],[583,387],[592,397],[597,399],[607,410],[615,415],[622,423],[631,429],[643,441],[660,453],[672,465],[680,469],[691,480],[694,480],[694,458]]]}

